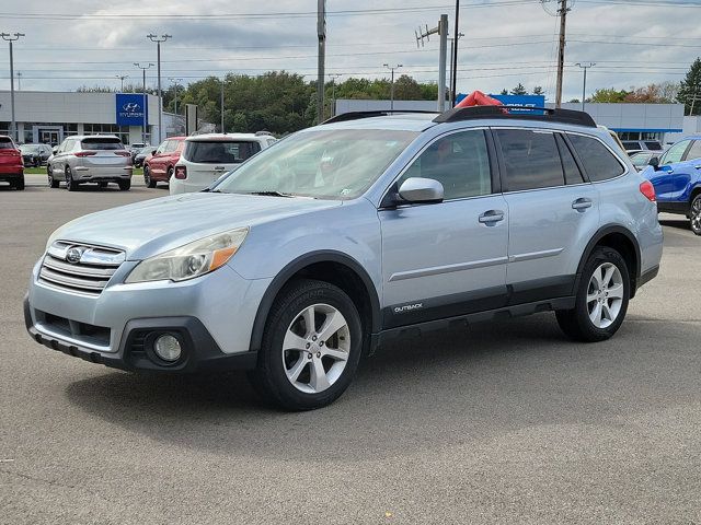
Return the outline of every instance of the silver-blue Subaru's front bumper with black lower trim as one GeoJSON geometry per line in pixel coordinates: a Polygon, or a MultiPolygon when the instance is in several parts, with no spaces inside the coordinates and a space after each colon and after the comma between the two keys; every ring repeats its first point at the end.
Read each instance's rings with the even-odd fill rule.
{"type": "Polygon", "coordinates": [[[32,338],[124,370],[239,369],[254,359],[245,354],[254,355],[251,331],[269,280],[246,280],[225,266],[189,281],[123,284],[136,264],[124,262],[101,293],[90,295],[39,280],[39,260],[25,302],[32,338]],[[188,357],[182,366],[153,360],[148,348],[135,350],[134,345],[148,346],[149,334],[157,331],[172,331],[183,339],[188,357]],[[139,334],[142,340],[134,343],[139,334]]]}

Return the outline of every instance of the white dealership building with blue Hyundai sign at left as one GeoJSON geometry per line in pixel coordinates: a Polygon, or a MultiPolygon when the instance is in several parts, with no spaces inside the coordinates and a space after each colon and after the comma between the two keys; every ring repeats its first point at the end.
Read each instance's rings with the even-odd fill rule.
{"type": "MultiPolygon", "coordinates": [[[[0,135],[11,135],[11,112],[10,92],[0,91],[0,135]]],[[[15,91],[14,114],[20,143],[55,145],[71,135],[111,133],[131,144],[142,142],[145,130],[146,142],[158,143],[158,96],[153,95],[15,91]]],[[[163,138],[183,133],[184,119],[163,113],[163,138]]]]}

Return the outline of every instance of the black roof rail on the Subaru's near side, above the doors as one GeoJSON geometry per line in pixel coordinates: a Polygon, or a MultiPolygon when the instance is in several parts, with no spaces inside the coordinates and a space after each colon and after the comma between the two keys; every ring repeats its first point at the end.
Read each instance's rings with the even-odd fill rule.
{"type": "Polygon", "coordinates": [[[434,118],[434,122],[457,122],[460,120],[487,117],[522,120],[545,120],[549,122],[576,124],[579,126],[596,128],[596,122],[588,113],[577,112],[574,109],[515,105],[455,107],[438,115],[436,118],[434,118]],[[509,109],[543,112],[543,114],[508,113],[509,109]]]}

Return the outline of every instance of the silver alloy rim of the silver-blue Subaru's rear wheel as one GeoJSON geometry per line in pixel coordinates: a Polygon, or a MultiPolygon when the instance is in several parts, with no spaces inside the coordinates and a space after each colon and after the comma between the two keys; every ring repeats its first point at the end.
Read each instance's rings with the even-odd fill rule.
{"type": "Polygon", "coordinates": [[[587,288],[587,311],[597,328],[607,328],[616,322],[623,305],[623,277],[611,262],[599,265],[587,288]]]}

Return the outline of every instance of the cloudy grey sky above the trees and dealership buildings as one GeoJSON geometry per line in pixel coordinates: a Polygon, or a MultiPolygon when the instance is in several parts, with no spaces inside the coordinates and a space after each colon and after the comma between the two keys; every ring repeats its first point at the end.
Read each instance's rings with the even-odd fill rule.
{"type": "MultiPolygon", "coordinates": [[[[555,0],[461,0],[458,91],[496,93],[519,82],[554,100],[559,19],[555,0]]],[[[701,56],[701,0],[570,0],[563,100],[679,82],[701,56]]],[[[134,62],[156,63],[146,35],[172,35],[161,46],[163,85],[227,72],[286,70],[317,77],[317,0],[0,0],[0,32],[14,44],[23,91],[74,91],[141,83],[134,62]]],[[[384,63],[418,81],[438,79],[438,36],[417,45],[415,31],[435,27],[455,0],[326,0],[326,73],[389,78],[384,63]]],[[[8,44],[0,42],[0,90],[10,88],[8,44]],[[4,62],[4,65],[3,65],[4,62]]],[[[156,67],[147,84],[156,85],[156,67]]],[[[15,89],[20,88],[15,80],[15,89]]]]}

